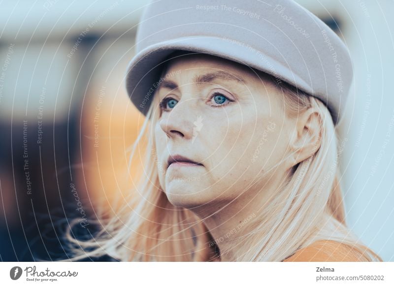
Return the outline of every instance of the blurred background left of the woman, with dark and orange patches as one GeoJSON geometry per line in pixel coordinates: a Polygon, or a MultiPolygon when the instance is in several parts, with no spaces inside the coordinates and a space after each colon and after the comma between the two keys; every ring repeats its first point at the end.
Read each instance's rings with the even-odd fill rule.
{"type": "MultiPolygon", "coordinates": [[[[116,176],[137,126],[123,76],[143,1],[22,2],[0,13],[10,12],[0,34],[0,261],[65,259],[69,222],[91,238],[89,219],[127,183],[116,176]]],[[[93,260],[112,261],[81,261],[93,260]]]]}

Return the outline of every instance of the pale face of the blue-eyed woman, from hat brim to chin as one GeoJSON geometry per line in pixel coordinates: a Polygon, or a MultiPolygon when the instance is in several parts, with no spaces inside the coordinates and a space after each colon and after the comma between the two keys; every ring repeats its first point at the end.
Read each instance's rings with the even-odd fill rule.
{"type": "Polygon", "coordinates": [[[272,84],[205,54],[171,60],[162,79],[155,144],[160,185],[173,205],[227,203],[248,186],[263,191],[284,175],[289,166],[280,161],[291,134],[283,95],[272,84]],[[168,166],[175,155],[200,164],[168,166]]]}

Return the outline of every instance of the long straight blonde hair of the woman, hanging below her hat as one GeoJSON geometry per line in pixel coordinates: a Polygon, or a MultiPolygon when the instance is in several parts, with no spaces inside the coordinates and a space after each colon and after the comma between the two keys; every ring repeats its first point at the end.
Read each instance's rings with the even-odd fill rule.
{"type": "Polygon", "coordinates": [[[173,206],[160,188],[154,132],[148,128],[158,120],[154,97],[133,144],[131,159],[138,143],[147,139],[144,172],[130,192],[130,204],[112,218],[91,221],[100,230],[89,240],[73,236],[72,226],[78,222],[72,222],[66,232],[72,257],[65,261],[104,254],[121,261],[214,261],[224,252],[235,253],[233,261],[283,261],[318,240],[349,245],[360,261],[382,261],[346,226],[339,138],[327,106],[287,83],[264,76],[282,92],[287,116],[296,118],[310,107],[318,110],[321,145],[313,156],[293,167],[275,196],[264,202],[261,212],[241,228],[240,235],[229,238],[228,249],[219,250],[204,222],[192,211],[173,206]]]}

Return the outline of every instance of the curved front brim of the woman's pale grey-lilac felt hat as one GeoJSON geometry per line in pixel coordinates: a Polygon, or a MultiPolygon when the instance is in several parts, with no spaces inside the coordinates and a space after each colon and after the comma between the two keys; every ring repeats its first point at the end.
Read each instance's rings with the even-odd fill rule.
{"type": "Polygon", "coordinates": [[[246,44],[219,37],[187,36],[151,45],[131,60],[127,68],[126,89],[133,104],[145,116],[153,98],[154,85],[160,79],[163,62],[168,55],[177,50],[218,56],[278,77],[304,92],[311,90],[290,66],[284,66],[246,44]]]}

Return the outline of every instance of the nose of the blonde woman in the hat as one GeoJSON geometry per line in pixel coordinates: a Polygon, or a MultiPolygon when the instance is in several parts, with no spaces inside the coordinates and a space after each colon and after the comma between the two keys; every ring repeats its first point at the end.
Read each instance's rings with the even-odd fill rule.
{"type": "Polygon", "coordinates": [[[196,116],[189,102],[178,102],[175,107],[168,112],[168,115],[160,120],[160,127],[169,138],[181,137],[184,139],[193,138],[193,122],[196,116]]]}

